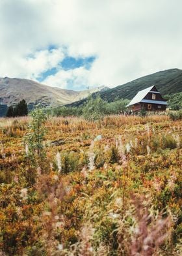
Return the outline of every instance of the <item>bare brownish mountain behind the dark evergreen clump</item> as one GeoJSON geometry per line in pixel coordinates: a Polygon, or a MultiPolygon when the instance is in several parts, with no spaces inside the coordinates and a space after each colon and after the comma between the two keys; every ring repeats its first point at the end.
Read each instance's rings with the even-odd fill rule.
{"type": "MultiPolygon", "coordinates": [[[[104,88],[91,89],[91,93],[101,89],[104,88]]],[[[87,96],[88,90],[73,91],[45,86],[44,84],[27,79],[0,78],[0,112],[3,111],[3,114],[5,112],[5,106],[16,104],[21,99],[25,99],[29,108],[32,108],[36,104],[41,104],[42,106],[59,106],[73,103],[87,96]]]]}

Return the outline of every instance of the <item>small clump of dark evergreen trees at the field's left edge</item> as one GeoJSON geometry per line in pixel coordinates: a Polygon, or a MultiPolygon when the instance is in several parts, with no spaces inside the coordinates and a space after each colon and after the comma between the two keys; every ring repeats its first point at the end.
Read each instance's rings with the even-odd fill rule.
{"type": "Polygon", "coordinates": [[[6,117],[14,118],[16,116],[27,116],[28,114],[28,106],[25,99],[19,101],[15,106],[9,106],[6,112],[6,117]]]}

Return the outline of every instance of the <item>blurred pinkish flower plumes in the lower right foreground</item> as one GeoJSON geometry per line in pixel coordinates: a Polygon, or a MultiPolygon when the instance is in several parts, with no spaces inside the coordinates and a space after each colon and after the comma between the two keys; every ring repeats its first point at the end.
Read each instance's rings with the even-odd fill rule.
{"type": "Polygon", "coordinates": [[[170,236],[171,221],[169,217],[155,217],[149,205],[144,204],[144,197],[134,199],[136,232],[133,232],[130,255],[154,255],[157,248],[170,236]],[[149,221],[150,220],[150,221],[149,221]]]}

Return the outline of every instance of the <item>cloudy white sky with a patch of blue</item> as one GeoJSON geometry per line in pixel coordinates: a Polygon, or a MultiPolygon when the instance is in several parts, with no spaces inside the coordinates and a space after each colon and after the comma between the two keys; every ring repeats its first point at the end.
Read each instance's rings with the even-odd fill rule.
{"type": "Polygon", "coordinates": [[[82,90],[182,69],[181,0],[0,0],[0,77],[82,90]]]}

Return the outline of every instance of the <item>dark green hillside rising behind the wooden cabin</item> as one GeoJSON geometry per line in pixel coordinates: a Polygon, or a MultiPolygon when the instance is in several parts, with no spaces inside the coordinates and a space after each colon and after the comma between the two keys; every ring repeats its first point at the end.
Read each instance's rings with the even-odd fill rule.
{"type": "MultiPolygon", "coordinates": [[[[121,86],[107,89],[107,91],[101,91],[99,95],[108,102],[114,101],[116,97],[119,99],[132,99],[138,91],[149,86],[157,86],[162,95],[182,92],[182,70],[168,69],[149,74],[121,86]]],[[[97,94],[95,93],[94,95],[97,94]]],[[[70,104],[70,106],[79,106],[83,103],[84,100],[70,104]]]]}

